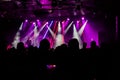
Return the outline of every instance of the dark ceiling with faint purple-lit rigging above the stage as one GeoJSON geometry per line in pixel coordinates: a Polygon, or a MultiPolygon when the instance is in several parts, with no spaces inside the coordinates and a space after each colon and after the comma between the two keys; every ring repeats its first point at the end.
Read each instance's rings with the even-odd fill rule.
{"type": "Polygon", "coordinates": [[[118,5],[112,0],[2,0],[1,18],[48,18],[118,15],[118,5]],[[42,4],[42,1],[49,3],[42,4]],[[115,6],[114,6],[115,5],[115,6]]]}

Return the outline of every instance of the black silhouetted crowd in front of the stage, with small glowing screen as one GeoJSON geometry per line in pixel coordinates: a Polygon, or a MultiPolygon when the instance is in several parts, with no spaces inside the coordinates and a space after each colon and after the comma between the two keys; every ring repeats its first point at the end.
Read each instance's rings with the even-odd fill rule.
{"type": "MultiPolygon", "coordinates": [[[[4,42],[4,40],[3,40],[4,42]]],[[[1,80],[114,80],[113,61],[119,53],[119,43],[102,43],[99,47],[91,41],[91,47],[79,49],[77,39],[68,44],[50,48],[47,39],[40,47],[24,47],[22,42],[17,49],[6,49],[0,44],[1,80]],[[114,55],[113,55],[114,54],[114,55]]]]}

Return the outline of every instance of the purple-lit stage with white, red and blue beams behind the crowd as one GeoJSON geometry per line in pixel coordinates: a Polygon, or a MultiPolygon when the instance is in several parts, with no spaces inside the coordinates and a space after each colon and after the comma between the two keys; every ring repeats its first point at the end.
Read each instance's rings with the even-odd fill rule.
{"type": "MultiPolygon", "coordinates": [[[[47,21],[40,21],[39,19],[35,20],[35,22],[24,22],[24,29],[20,30],[24,31],[25,33],[20,33],[20,41],[27,44],[27,40],[30,39],[33,46],[34,43],[35,45],[39,46],[38,43],[40,42],[40,40],[47,38],[48,40],[50,40],[50,43],[52,43],[51,48],[53,48],[55,47],[56,43],[60,44],[68,42],[68,40],[72,39],[74,35],[74,37],[78,39],[80,38],[80,42],[87,42],[87,47],[90,47],[91,40],[96,41],[96,44],[98,45],[98,32],[93,29],[93,24],[87,23],[87,25],[85,25],[85,22],[86,20],[71,21],[69,18],[63,21],[50,21],[50,23],[48,23],[47,21]],[[81,31],[79,31],[80,29],[81,31]],[[76,35],[78,31],[79,36],[76,35]]],[[[82,45],[82,43],[80,44],[82,45]]]]}

